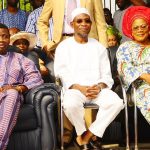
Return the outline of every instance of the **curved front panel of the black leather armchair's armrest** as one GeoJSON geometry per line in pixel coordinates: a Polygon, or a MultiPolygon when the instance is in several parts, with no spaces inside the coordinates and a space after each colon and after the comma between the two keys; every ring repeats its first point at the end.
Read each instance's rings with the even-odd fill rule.
{"type": "Polygon", "coordinates": [[[57,100],[58,93],[49,87],[41,89],[34,98],[38,125],[42,129],[41,144],[43,150],[56,149],[57,100]]]}

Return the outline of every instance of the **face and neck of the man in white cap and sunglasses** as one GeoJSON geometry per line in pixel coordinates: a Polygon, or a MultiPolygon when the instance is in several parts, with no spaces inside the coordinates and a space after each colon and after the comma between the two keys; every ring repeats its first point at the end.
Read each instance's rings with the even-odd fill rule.
{"type": "Polygon", "coordinates": [[[74,18],[73,22],[71,22],[71,26],[74,29],[74,37],[77,42],[85,43],[88,41],[91,25],[92,22],[87,14],[80,14],[74,18]]]}

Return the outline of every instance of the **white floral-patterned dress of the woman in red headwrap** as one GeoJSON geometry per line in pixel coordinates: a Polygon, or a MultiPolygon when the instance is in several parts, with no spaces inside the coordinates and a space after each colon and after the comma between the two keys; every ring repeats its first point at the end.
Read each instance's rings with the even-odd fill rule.
{"type": "Polygon", "coordinates": [[[117,51],[118,72],[128,90],[131,83],[136,87],[136,103],[150,124],[150,84],[139,79],[143,73],[150,73],[150,47],[128,41],[117,51]]]}

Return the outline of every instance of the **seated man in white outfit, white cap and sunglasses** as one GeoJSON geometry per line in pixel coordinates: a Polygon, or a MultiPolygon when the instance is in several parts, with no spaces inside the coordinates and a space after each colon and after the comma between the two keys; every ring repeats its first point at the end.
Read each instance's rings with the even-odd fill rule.
{"type": "Polygon", "coordinates": [[[102,138],[107,126],[124,107],[122,99],[110,90],[113,79],[106,48],[88,38],[91,24],[85,8],[75,9],[71,22],[74,36],[58,45],[54,61],[55,75],[65,89],[64,112],[75,126],[77,143],[84,150],[94,145],[100,149],[95,137],[102,138]],[[99,106],[96,120],[89,129],[84,121],[84,103],[99,106]]]}

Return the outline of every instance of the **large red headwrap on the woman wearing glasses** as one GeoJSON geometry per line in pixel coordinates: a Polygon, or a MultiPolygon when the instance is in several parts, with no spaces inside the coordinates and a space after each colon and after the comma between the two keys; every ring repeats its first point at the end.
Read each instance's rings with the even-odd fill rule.
{"type": "Polygon", "coordinates": [[[150,8],[145,6],[132,6],[126,10],[123,16],[122,31],[131,39],[133,39],[131,30],[132,23],[137,18],[144,19],[150,25],[150,8]]]}

